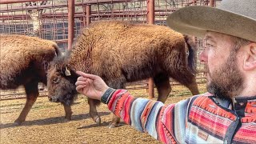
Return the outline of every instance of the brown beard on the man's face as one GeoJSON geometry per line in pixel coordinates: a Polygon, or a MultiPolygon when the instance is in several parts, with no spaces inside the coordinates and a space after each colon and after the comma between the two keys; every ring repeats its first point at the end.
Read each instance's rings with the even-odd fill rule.
{"type": "Polygon", "coordinates": [[[214,96],[227,99],[240,94],[243,89],[243,78],[238,70],[236,53],[231,52],[226,64],[210,74],[210,77],[211,82],[207,85],[207,90],[214,96]]]}

